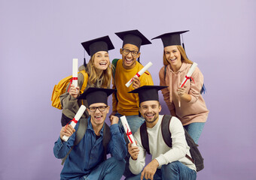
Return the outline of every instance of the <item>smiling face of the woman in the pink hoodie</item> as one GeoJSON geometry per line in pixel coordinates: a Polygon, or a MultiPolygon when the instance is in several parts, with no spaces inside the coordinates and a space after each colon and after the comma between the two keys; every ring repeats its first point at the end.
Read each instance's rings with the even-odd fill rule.
{"type": "Polygon", "coordinates": [[[177,46],[166,46],[164,48],[164,54],[166,55],[166,60],[172,67],[181,67],[181,52],[179,52],[177,46]]]}

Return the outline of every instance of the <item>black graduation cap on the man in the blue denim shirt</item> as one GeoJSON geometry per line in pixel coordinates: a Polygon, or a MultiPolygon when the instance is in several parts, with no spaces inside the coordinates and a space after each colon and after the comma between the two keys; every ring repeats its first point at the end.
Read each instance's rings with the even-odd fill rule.
{"type": "Polygon", "coordinates": [[[89,88],[79,96],[78,99],[87,100],[88,107],[90,104],[104,103],[108,105],[108,96],[115,92],[115,89],[89,88]]]}

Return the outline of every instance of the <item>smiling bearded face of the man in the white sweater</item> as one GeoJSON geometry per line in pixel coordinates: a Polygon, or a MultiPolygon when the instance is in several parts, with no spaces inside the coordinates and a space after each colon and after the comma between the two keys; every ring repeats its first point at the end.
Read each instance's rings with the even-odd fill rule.
{"type": "Polygon", "coordinates": [[[157,124],[158,116],[162,107],[159,101],[144,101],[140,104],[139,112],[147,123],[147,127],[154,127],[157,124]]]}

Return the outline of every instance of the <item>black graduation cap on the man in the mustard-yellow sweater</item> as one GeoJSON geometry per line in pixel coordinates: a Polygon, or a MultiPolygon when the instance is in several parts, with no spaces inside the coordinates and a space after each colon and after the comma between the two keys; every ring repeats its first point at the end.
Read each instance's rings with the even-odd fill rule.
{"type": "Polygon", "coordinates": [[[121,31],[116,32],[114,34],[117,34],[118,37],[120,37],[121,40],[123,40],[123,45],[126,43],[131,43],[135,46],[137,46],[139,49],[142,45],[150,44],[151,41],[147,39],[140,31],[131,30],[131,31],[121,31]]]}

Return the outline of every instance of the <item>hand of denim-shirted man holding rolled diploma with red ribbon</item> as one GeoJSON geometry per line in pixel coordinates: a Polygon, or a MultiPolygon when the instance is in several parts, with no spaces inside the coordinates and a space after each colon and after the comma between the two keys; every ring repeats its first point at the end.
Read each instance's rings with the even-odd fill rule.
{"type": "MultiPolygon", "coordinates": [[[[76,113],[75,115],[75,118],[73,118],[71,120],[71,123],[70,124],[67,124],[66,127],[62,127],[62,130],[60,131],[60,138],[64,141],[67,141],[69,139],[69,135],[73,134],[75,131],[74,131],[74,127],[75,125],[78,123],[79,119],[81,118],[81,116],[84,114],[84,111],[86,110],[87,108],[84,106],[84,105],[81,105],[81,107],[79,108],[78,110],[78,113],[76,113]],[[68,130],[67,130],[68,129],[68,130]],[[66,134],[65,134],[66,133],[66,134]]],[[[70,136],[71,136],[70,135],[70,136]]]]}

